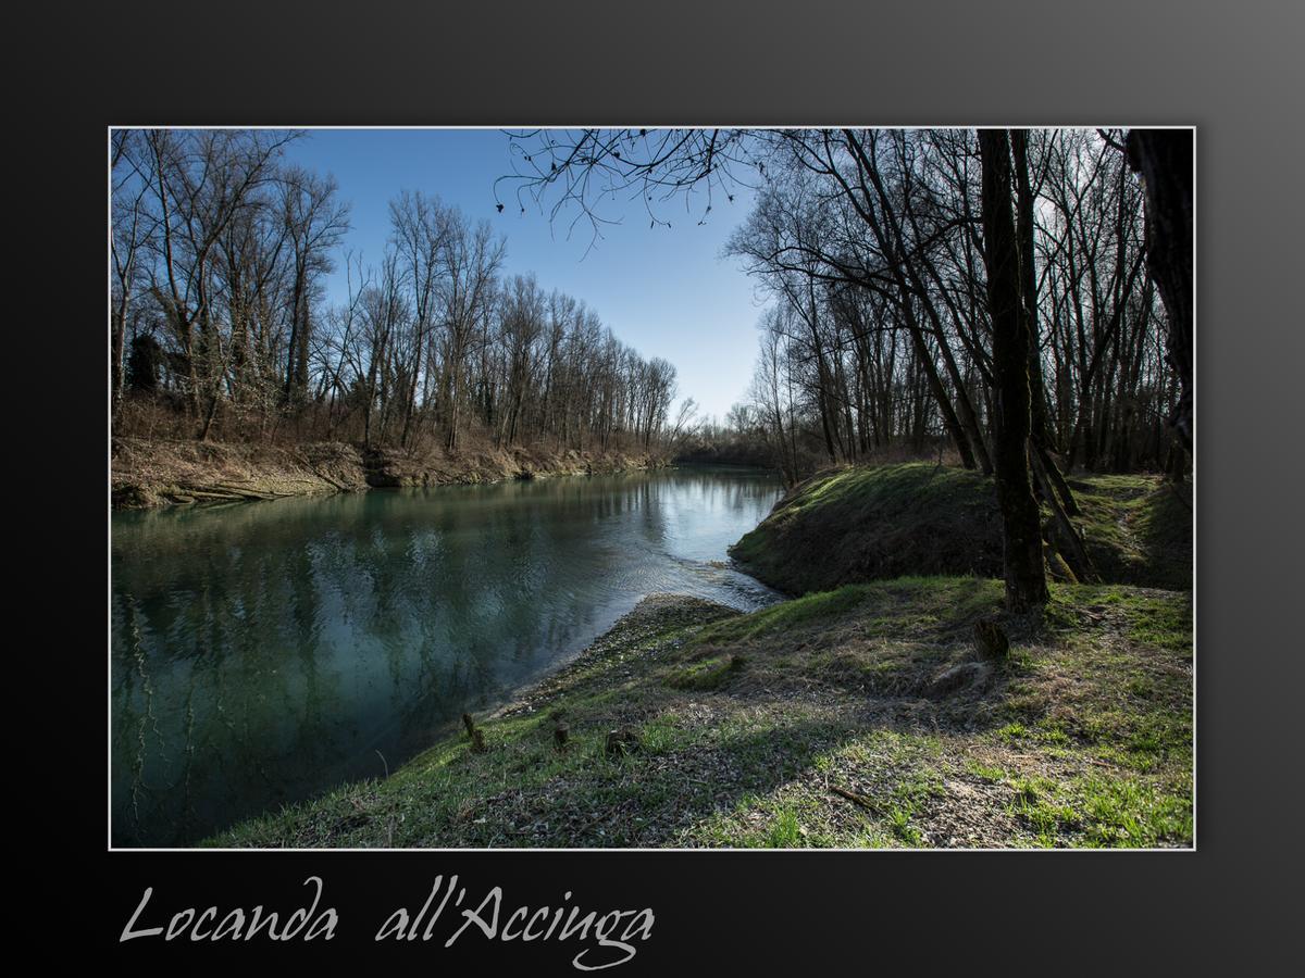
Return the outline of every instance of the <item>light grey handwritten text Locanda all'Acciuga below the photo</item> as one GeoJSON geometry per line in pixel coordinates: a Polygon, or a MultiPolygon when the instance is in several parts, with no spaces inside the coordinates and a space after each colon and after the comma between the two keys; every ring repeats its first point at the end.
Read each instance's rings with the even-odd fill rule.
{"type": "MultiPolygon", "coordinates": [[[[312,902],[282,915],[265,910],[260,904],[251,910],[217,906],[179,910],[171,917],[150,908],[154,888],[146,887],[132,918],[123,927],[119,941],[137,938],[162,940],[331,940],[339,925],[339,914],[333,906],[322,906],[322,880],[309,876],[304,887],[312,892],[312,902]]],[[[586,944],[572,958],[582,971],[615,968],[632,960],[637,953],[636,941],[652,936],[654,915],[650,908],[642,910],[583,910],[570,902],[566,891],[559,906],[504,906],[502,887],[491,887],[472,906],[467,888],[458,878],[435,878],[431,893],[420,909],[411,913],[401,906],[376,930],[376,940],[429,941],[448,935],[444,947],[450,948],[465,934],[480,935],[485,940],[576,941],[586,944]],[[442,921],[442,925],[441,925],[442,921]]]]}

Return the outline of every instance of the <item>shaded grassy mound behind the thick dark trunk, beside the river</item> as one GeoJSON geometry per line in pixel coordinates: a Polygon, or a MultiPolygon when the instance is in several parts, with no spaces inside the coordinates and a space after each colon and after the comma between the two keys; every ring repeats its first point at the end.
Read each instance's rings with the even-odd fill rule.
{"type": "MultiPolygon", "coordinates": [[[[1083,510],[1074,522],[1101,580],[1191,587],[1190,486],[1131,475],[1069,482],[1083,510]]],[[[729,553],[791,595],[904,574],[997,578],[1001,514],[993,481],[974,471],[929,463],[834,469],[795,488],[729,553]]]]}

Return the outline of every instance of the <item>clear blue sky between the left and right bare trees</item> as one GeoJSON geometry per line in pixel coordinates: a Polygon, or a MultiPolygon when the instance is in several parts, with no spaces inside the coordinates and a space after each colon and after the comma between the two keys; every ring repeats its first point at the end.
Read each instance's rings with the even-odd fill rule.
{"type": "MultiPolygon", "coordinates": [[[[313,129],[291,146],[288,158],[333,173],[341,197],[352,203],[352,230],[345,248],[364,263],[381,258],[389,236],[389,201],[399,190],[437,194],[506,236],[506,274],[534,271],[545,289],[583,299],[625,343],[643,356],[660,356],[679,372],[680,396],[693,398],[701,416],[724,417],[741,400],[757,351],[761,314],[753,282],[731,258],[720,258],[729,232],[750,209],[752,193],[739,188],[733,203],[714,200],[706,224],[683,201],[659,207],[672,227],[650,228],[639,202],[617,201],[592,249],[587,223],[568,240],[569,216],[556,224],[527,201],[522,214],[508,184],[500,185],[502,213],[495,209],[495,179],[512,172],[508,137],[497,129],[313,129]],[[586,250],[589,252],[586,254],[586,250]]],[[[343,261],[328,283],[331,301],[345,295],[343,261]]]]}

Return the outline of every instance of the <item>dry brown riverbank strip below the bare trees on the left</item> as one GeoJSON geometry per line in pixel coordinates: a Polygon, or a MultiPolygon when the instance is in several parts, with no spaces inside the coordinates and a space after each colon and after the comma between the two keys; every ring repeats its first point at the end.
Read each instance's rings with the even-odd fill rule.
{"type": "Polygon", "coordinates": [[[600,475],[671,464],[669,455],[656,451],[514,447],[412,456],[343,442],[270,446],[115,437],[110,449],[110,497],[114,510],[140,510],[600,475]]]}

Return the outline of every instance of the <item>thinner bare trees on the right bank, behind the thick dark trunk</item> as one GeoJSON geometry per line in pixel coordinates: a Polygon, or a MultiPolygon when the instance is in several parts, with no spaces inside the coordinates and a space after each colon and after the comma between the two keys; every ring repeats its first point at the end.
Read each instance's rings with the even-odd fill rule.
{"type": "MultiPolygon", "coordinates": [[[[1144,267],[1142,184],[1124,134],[1017,138],[1039,445],[1065,469],[1181,476],[1188,460],[1168,424],[1181,387],[1144,267]]],[[[976,133],[803,133],[774,143],[757,164],[758,203],[728,248],[773,299],[756,378],[723,430],[703,430],[699,443],[762,451],[790,480],[934,449],[990,473],[996,385],[976,133]]]]}

